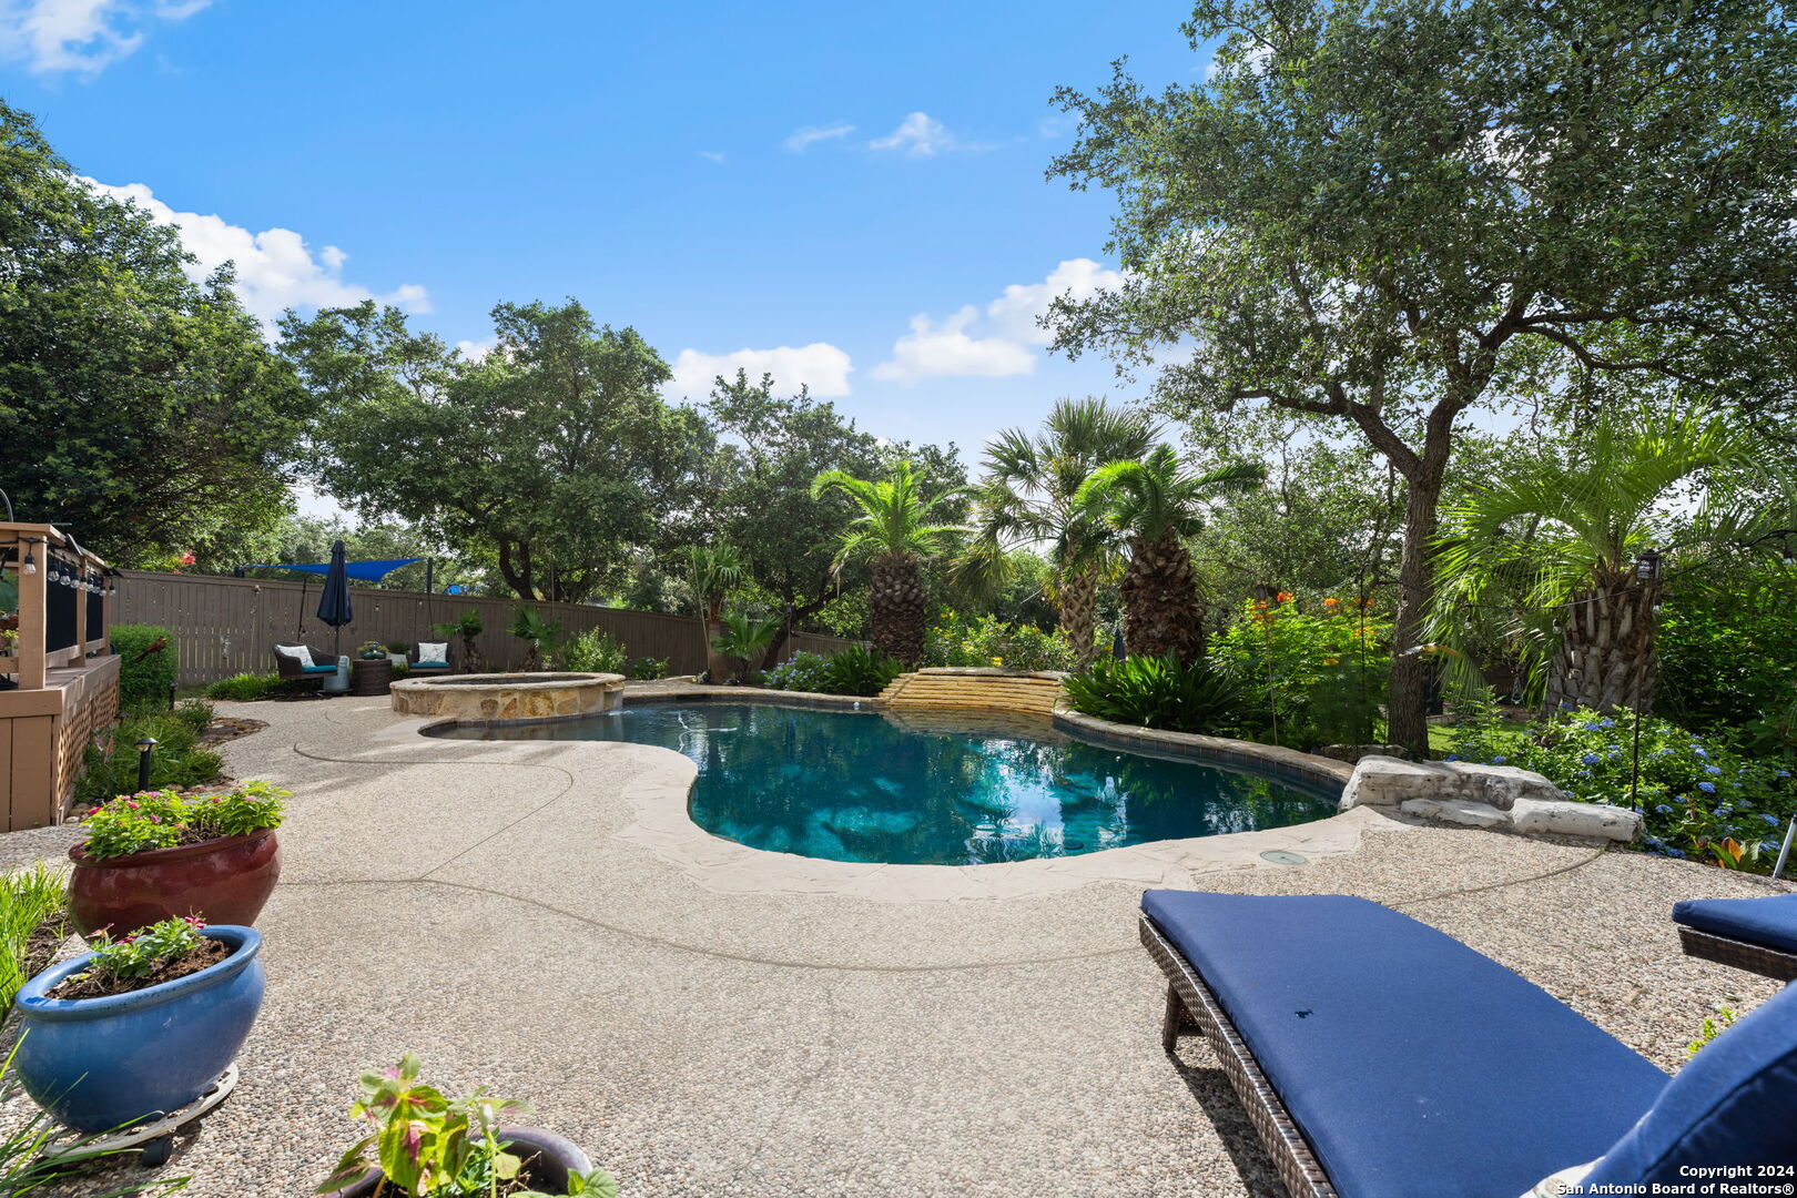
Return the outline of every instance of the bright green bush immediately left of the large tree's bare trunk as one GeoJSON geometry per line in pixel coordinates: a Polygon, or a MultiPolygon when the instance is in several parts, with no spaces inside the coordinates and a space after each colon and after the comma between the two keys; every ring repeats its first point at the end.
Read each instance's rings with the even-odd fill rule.
{"type": "Polygon", "coordinates": [[[1213,638],[1211,661],[1242,684],[1242,724],[1256,740],[1368,744],[1391,672],[1391,621],[1357,598],[1328,596],[1310,612],[1281,591],[1251,600],[1213,638]]]}

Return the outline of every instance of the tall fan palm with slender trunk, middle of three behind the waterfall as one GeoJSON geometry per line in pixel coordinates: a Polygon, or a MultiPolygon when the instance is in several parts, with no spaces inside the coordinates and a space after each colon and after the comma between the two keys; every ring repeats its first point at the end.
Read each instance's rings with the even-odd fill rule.
{"type": "Polygon", "coordinates": [[[963,577],[999,582],[1005,544],[1046,542],[1055,568],[1049,598],[1082,666],[1096,648],[1098,582],[1118,555],[1114,530],[1082,512],[1075,496],[1100,465],[1146,454],[1154,436],[1155,426],[1143,413],[1087,397],[1055,401],[1035,436],[1005,429],[987,445],[976,492],[981,524],[963,577]]]}

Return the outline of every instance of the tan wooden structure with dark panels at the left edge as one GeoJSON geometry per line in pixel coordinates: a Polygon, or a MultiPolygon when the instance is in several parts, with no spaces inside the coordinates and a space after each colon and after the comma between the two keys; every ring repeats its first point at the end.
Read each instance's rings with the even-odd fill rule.
{"type": "Polygon", "coordinates": [[[66,532],[0,523],[0,566],[18,582],[18,612],[0,674],[0,830],[59,823],[95,736],[119,715],[111,652],[117,575],[66,532]]]}

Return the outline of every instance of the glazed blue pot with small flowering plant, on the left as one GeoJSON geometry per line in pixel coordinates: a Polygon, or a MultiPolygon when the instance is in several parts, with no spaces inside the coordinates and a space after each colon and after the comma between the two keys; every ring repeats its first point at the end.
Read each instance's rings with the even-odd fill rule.
{"type": "Polygon", "coordinates": [[[14,999],[20,1083],[77,1132],[187,1106],[232,1063],[262,1008],[261,948],[255,929],[164,920],[50,966],[14,999]]]}

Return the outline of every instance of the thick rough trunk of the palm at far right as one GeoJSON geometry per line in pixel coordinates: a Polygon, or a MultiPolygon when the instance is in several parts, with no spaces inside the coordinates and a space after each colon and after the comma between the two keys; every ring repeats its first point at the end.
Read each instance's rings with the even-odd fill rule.
{"type": "Polygon", "coordinates": [[[1547,666],[1549,711],[1653,708],[1659,661],[1653,650],[1657,584],[1637,584],[1623,569],[1599,569],[1592,587],[1572,596],[1565,638],[1547,666]]]}

